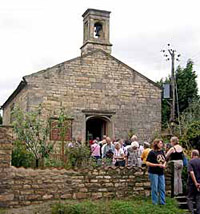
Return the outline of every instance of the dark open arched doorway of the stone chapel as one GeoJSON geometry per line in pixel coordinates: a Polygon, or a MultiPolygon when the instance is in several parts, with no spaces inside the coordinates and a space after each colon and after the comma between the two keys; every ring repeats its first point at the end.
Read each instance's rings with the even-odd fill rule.
{"type": "Polygon", "coordinates": [[[102,140],[103,135],[108,135],[108,123],[104,117],[90,117],[86,121],[86,141],[94,140],[99,137],[102,140]]]}

